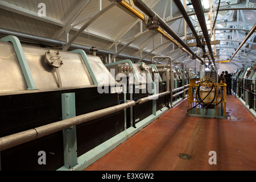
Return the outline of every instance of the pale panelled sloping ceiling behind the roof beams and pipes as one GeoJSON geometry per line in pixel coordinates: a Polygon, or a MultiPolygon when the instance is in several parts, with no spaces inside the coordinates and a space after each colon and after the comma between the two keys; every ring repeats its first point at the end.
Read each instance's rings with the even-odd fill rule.
{"type": "MultiPolygon", "coordinates": [[[[130,3],[130,1],[125,0],[130,3]]],[[[204,0],[205,1],[205,0],[204,0]]],[[[99,10],[99,2],[96,0],[92,1],[81,1],[81,0],[42,0],[42,1],[34,1],[34,0],[19,0],[19,1],[11,1],[11,0],[0,0],[0,28],[6,28],[8,30],[14,30],[19,32],[24,32],[27,34],[43,36],[46,38],[55,38],[56,34],[61,30],[61,28],[65,27],[65,23],[67,23],[67,19],[69,16],[75,14],[77,8],[81,5],[82,2],[89,2],[88,5],[85,6],[83,10],[79,13],[77,18],[71,23],[73,26],[72,30],[69,33],[69,38],[72,38],[75,35],[76,31],[79,30],[81,26],[83,26],[93,15],[97,14],[99,10]],[[38,6],[39,3],[44,3],[46,5],[46,17],[39,17],[36,15],[40,10],[38,6]],[[74,26],[75,25],[75,26],[74,26]]],[[[184,20],[181,16],[181,13],[177,9],[177,6],[172,0],[144,0],[148,6],[152,8],[160,17],[164,20],[168,20],[168,24],[176,34],[181,36],[181,39],[184,40],[184,20]],[[172,10],[172,11],[171,11],[172,10]],[[178,18],[177,18],[178,17],[178,18]]],[[[183,1],[182,1],[183,2],[183,1]]],[[[187,1],[189,3],[190,1],[187,1]]],[[[213,1],[215,6],[218,1],[213,1]]],[[[221,0],[221,2],[224,2],[221,0]]],[[[232,39],[245,37],[244,31],[240,31],[236,22],[237,22],[237,10],[241,7],[243,17],[245,22],[243,22],[243,17],[240,14],[239,17],[239,26],[247,25],[247,28],[251,28],[253,24],[256,22],[255,16],[255,0],[250,0],[249,4],[246,4],[246,1],[240,1],[236,4],[237,1],[230,0],[225,1],[230,3],[230,7],[233,9],[229,9],[229,7],[221,7],[221,11],[218,14],[217,23],[222,23],[220,26],[218,24],[216,27],[224,28],[224,30],[218,30],[217,38],[222,38],[224,35],[224,31],[226,33],[230,33],[234,37],[232,39]],[[249,10],[246,9],[247,6],[250,7],[249,10]],[[245,7],[246,6],[246,7],[245,7]],[[251,7],[254,6],[254,7],[251,7]],[[222,18],[230,13],[229,16],[226,16],[225,19],[229,21],[225,23],[222,18]],[[221,20],[220,20],[221,19],[221,20]],[[220,20],[220,21],[218,21],[220,20]],[[234,22],[232,24],[232,21],[234,22]],[[225,27],[226,26],[226,27],[225,27]],[[225,28],[234,28],[237,26],[237,30],[225,30],[225,28]]],[[[102,0],[102,9],[108,6],[111,2],[108,0],[102,0]]],[[[227,3],[221,3],[222,5],[228,5],[227,3]]],[[[192,6],[187,8],[187,11],[192,11],[192,6]]],[[[135,7],[136,8],[136,7],[135,7]]],[[[138,10],[140,11],[140,10],[138,10]]],[[[141,12],[141,11],[140,11],[141,12]]],[[[207,14],[206,14],[207,15],[207,14]]],[[[196,16],[191,16],[191,18],[196,18],[196,16]]],[[[195,28],[197,29],[197,20],[192,20],[195,28]]],[[[82,44],[84,46],[96,46],[100,49],[108,49],[109,51],[115,52],[115,45],[117,46],[117,52],[127,43],[130,43],[125,49],[122,50],[121,53],[125,53],[127,55],[142,57],[147,55],[146,59],[151,59],[154,55],[160,56],[173,56],[177,57],[183,51],[172,51],[174,45],[170,42],[170,40],[164,38],[164,36],[160,36],[158,32],[152,33],[152,31],[148,31],[139,38],[135,38],[135,35],[140,35],[141,32],[141,20],[138,20],[138,17],[134,14],[130,13],[130,11],[125,10],[121,6],[114,6],[112,9],[106,11],[103,15],[100,16],[97,20],[95,20],[82,35],[75,41],[77,44],[82,44]],[[129,31],[127,31],[127,29],[129,31]],[[153,36],[154,35],[154,36],[153,36]],[[134,40],[133,42],[131,42],[134,40]],[[168,46],[167,42],[170,42],[168,46]],[[163,46],[161,46],[163,45],[163,46]],[[159,52],[160,51],[160,52],[159,52]],[[171,54],[170,54],[171,52],[171,54]]],[[[65,29],[67,30],[67,29],[65,29]]],[[[142,32],[146,31],[145,23],[142,22],[142,32]]],[[[191,30],[187,27],[187,34],[191,34],[191,30]]],[[[191,35],[189,35],[191,36],[191,35]]],[[[65,33],[60,36],[60,40],[65,41],[66,35],[65,33]]],[[[231,43],[228,43],[226,47],[238,47],[239,44],[237,42],[232,42],[230,36],[226,36],[225,40],[228,40],[231,43]]],[[[252,40],[255,42],[255,40],[252,40]]],[[[185,42],[185,40],[184,40],[185,42]]],[[[223,47],[224,45],[219,45],[217,49],[223,47]]],[[[175,45],[175,49],[177,46],[175,45]]],[[[247,47],[244,49],[253,49],[249,53],[249,59],[255,60],[255,45],[247,44],[247,47]],[[250,46],[252,45],[252,46],[250,46]]],[[[197,48],[193,48],[193,50],[197,51],[197,48]]],[[[220,55],[224,55],[222,50],[218,51],[220,55]]],[[[225,50],[224,50],[225,51],[225,50]]],[[[241,53],[243,54],[243,53],[241,53]]],[[[188,59],[189,55],[187,54],[183,60],[188,59]]],[[[222,59],[228,58],[227,56],[222,56],[222,59]]],[[[191,61],[188,59],[186,62],[191,61]]],[[[242,61],[242,60],[241,60],[242,61]]]]}

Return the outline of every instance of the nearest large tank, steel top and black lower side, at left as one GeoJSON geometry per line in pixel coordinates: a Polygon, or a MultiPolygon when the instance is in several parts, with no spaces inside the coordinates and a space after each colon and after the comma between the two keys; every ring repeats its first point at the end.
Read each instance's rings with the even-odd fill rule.
{"type": "MultiPolygon", "coordinates": [[[[63,120],[63,94],[75,94],[75,115],[119,104],[119,94],[111,92],[117,82],[99,57],[82,55],[81,50],[63,52],[23,45],[20,60],[17,46],[0,41],[0,137],[63,120]],[[20,61],[27,63],[27,72],[20,61]],[[27,73],[33,88],[28,86],[27,73]],[[99,83],[108,92],[99,93],[99,83]]],[[[123,111],[77,125],[77,156],[121,133],[124,127],[123,111]]],[[[1,151],[1,169],[56,170],[64,166],[63,148],[63,131],[20,144],[1,151]],[[46,165],[38,164],[39,151],[46,152],[46,165]]]]}

